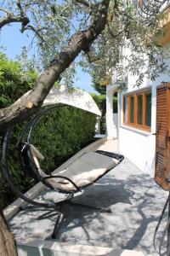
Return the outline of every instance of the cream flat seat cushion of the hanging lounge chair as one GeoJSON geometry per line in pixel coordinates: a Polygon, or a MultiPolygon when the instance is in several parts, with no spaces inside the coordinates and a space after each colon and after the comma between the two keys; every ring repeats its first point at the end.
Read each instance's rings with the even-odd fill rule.
{"type": "MultiPolygon", "coordinates": [[[[77,187],[83,187],[93,183],[99,176],[116,166],[118,160],[112,159],[103,154],[89,152],[83,154],[78,160],[73,162],[66,170],[55,173],[56,175],[69,177],[77,187]]],[[[76,190],[74,185],[62,178],[50,178],[50,183],[56,189],[67,191],[76,190]]]]}

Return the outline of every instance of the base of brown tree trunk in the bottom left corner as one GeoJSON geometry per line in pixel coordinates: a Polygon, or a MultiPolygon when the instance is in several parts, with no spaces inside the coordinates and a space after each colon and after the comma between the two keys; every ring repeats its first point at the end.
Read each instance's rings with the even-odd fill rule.
{"type": "Polygon", "coordinates": [[[8,229],[8,224],[0,210],[0,255],[17,256],[16,244],[13,234],[8,229]]]}

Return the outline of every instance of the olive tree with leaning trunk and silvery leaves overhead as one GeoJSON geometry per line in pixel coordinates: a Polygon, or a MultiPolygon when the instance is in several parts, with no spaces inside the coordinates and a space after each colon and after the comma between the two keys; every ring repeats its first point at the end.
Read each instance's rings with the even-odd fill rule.
{"type": "MultiPolygon", "coordinates": [[[[71,80],[75,65],[81,65],[100,83],[111,79],[113,68],[121,76],[129,72],[155,79],[167,67],[155,35],[161,32],[162,1],[135,0],[1,0],[0,29],[14,22],[20,32],[31,31],[31,45],[41,74],[32,90],[7,108],[0,109],[0,131],[31,116],[54,83],[71,80]],[[130,54],[124,55],[123,49],[130,54]],[[76,58],[79,55],[77,61],[76,58]],[[146,70],[145,61],[150,66],[146,70]],[[159,57],[158,57],[159,56],[159,57]],[[122,65],[123,64],[123,65],[122,65]]],[[[0,215],[0,254],[16,255],[13,236],[0,215]]]]}

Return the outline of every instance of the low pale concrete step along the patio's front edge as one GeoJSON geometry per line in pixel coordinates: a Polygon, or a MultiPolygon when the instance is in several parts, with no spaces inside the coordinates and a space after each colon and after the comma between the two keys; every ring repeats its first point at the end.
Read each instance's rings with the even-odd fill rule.
{"type": "Polygon", "coordinates": [[[20,242],[17,247],[19,256],[144,256],[144,253],[121,248],[68,245],[65,242],[44,240],[20,242]]]}

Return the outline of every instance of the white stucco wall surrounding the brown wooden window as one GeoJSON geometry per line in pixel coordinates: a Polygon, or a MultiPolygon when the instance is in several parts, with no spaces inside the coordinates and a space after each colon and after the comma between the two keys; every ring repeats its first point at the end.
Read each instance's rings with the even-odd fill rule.
{"type": "MultiPolygon", "coordinates": [[[[167,60],[167,65],[170,67],[170,60],[167,60]]],[[[151,86],[152,91],[152,105],[151,105],[151,131],[145,132],[138,129],[133,129],[130,126],[123,125],[123,110],[122,99],[123,95],[138,88],[133,87],[135,84],[135,77],[128,76],[127,90],[119,92],[118,96],[118,138],[119,150],[127,156],[129,160],[141,169],[147,172],[151,177],[155,175],[155,153],[156,153],[156,136],[152,133],[156,132],[156,86],[162,82],[169,82],[170,76],[161,74],[161,77],[154,82],[145,79],[140,89],[151,86]]]]}

